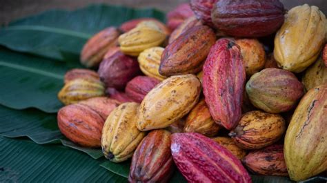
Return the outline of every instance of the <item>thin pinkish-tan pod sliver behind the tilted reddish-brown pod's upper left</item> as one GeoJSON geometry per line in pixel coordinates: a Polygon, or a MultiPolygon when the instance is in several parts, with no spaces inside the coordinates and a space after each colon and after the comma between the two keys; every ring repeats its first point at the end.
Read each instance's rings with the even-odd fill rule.
{"type": "Polygon", "coordinates": [[[189,17],[188,19],[185,19],[181,25],[179,25],[174,31],[172,31],[172,34],[169,37],[169,44],[172,43],[177,37],[179,37],[182,33],[184,33],[186,30],[194,27],[194,26],[201,26],[201,21],[197,20],[194,16],[189,17]]]}

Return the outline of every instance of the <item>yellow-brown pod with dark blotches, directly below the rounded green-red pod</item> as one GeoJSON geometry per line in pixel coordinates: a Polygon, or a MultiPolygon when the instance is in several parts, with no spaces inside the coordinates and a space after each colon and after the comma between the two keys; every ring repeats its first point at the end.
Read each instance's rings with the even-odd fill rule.
{"type": "Polygon", "coordinates": [[[285,130],[285,120],[280,115],[253,110],[245,113],[228,135],[241,148],[259,149],[277,142],[285,130]]]}

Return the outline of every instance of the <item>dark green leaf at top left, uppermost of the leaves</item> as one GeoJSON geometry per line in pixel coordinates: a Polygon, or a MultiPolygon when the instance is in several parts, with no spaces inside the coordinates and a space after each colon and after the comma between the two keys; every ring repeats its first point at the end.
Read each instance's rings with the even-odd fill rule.
{"type": "Polygon", "coordinates": [[[83,44],[96,32],[139,17],[165,19],[163,12],[154,9],[137,10],[103,4],[72,12],[51,10],[2,28],[0,44],[52,59],[78,61],[83,44]]]}

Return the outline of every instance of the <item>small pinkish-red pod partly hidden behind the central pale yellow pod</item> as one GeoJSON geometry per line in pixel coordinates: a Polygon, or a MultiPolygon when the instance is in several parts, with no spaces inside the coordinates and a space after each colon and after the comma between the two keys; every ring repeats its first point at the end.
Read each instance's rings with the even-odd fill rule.
{"type": "Polygon", "coordinates": [[[152,77],[137,76],[128,82],[125,93],[135,102],[141,103],[146,94],[159,84],[159,82],[158,79],[152,77]]]}

